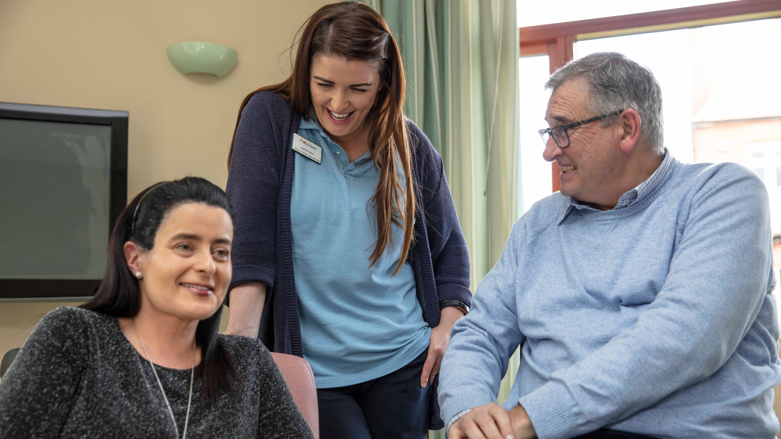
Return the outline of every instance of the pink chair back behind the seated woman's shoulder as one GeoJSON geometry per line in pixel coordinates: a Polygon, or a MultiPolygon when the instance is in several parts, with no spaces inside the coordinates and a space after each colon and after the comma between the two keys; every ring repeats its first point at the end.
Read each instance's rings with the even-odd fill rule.
{"type": "Polygon", "coordinates": [[[293,401],[298,406],[298,411],[304,415],[306,423],[312,429],[315,439],[320,437],[320,420],[317,410],[317,387],[315,387],[315,375],[309,363],[296,355],[271,352],[271,356],[280,368],[287,388],[293,395],[293,401]]]}

